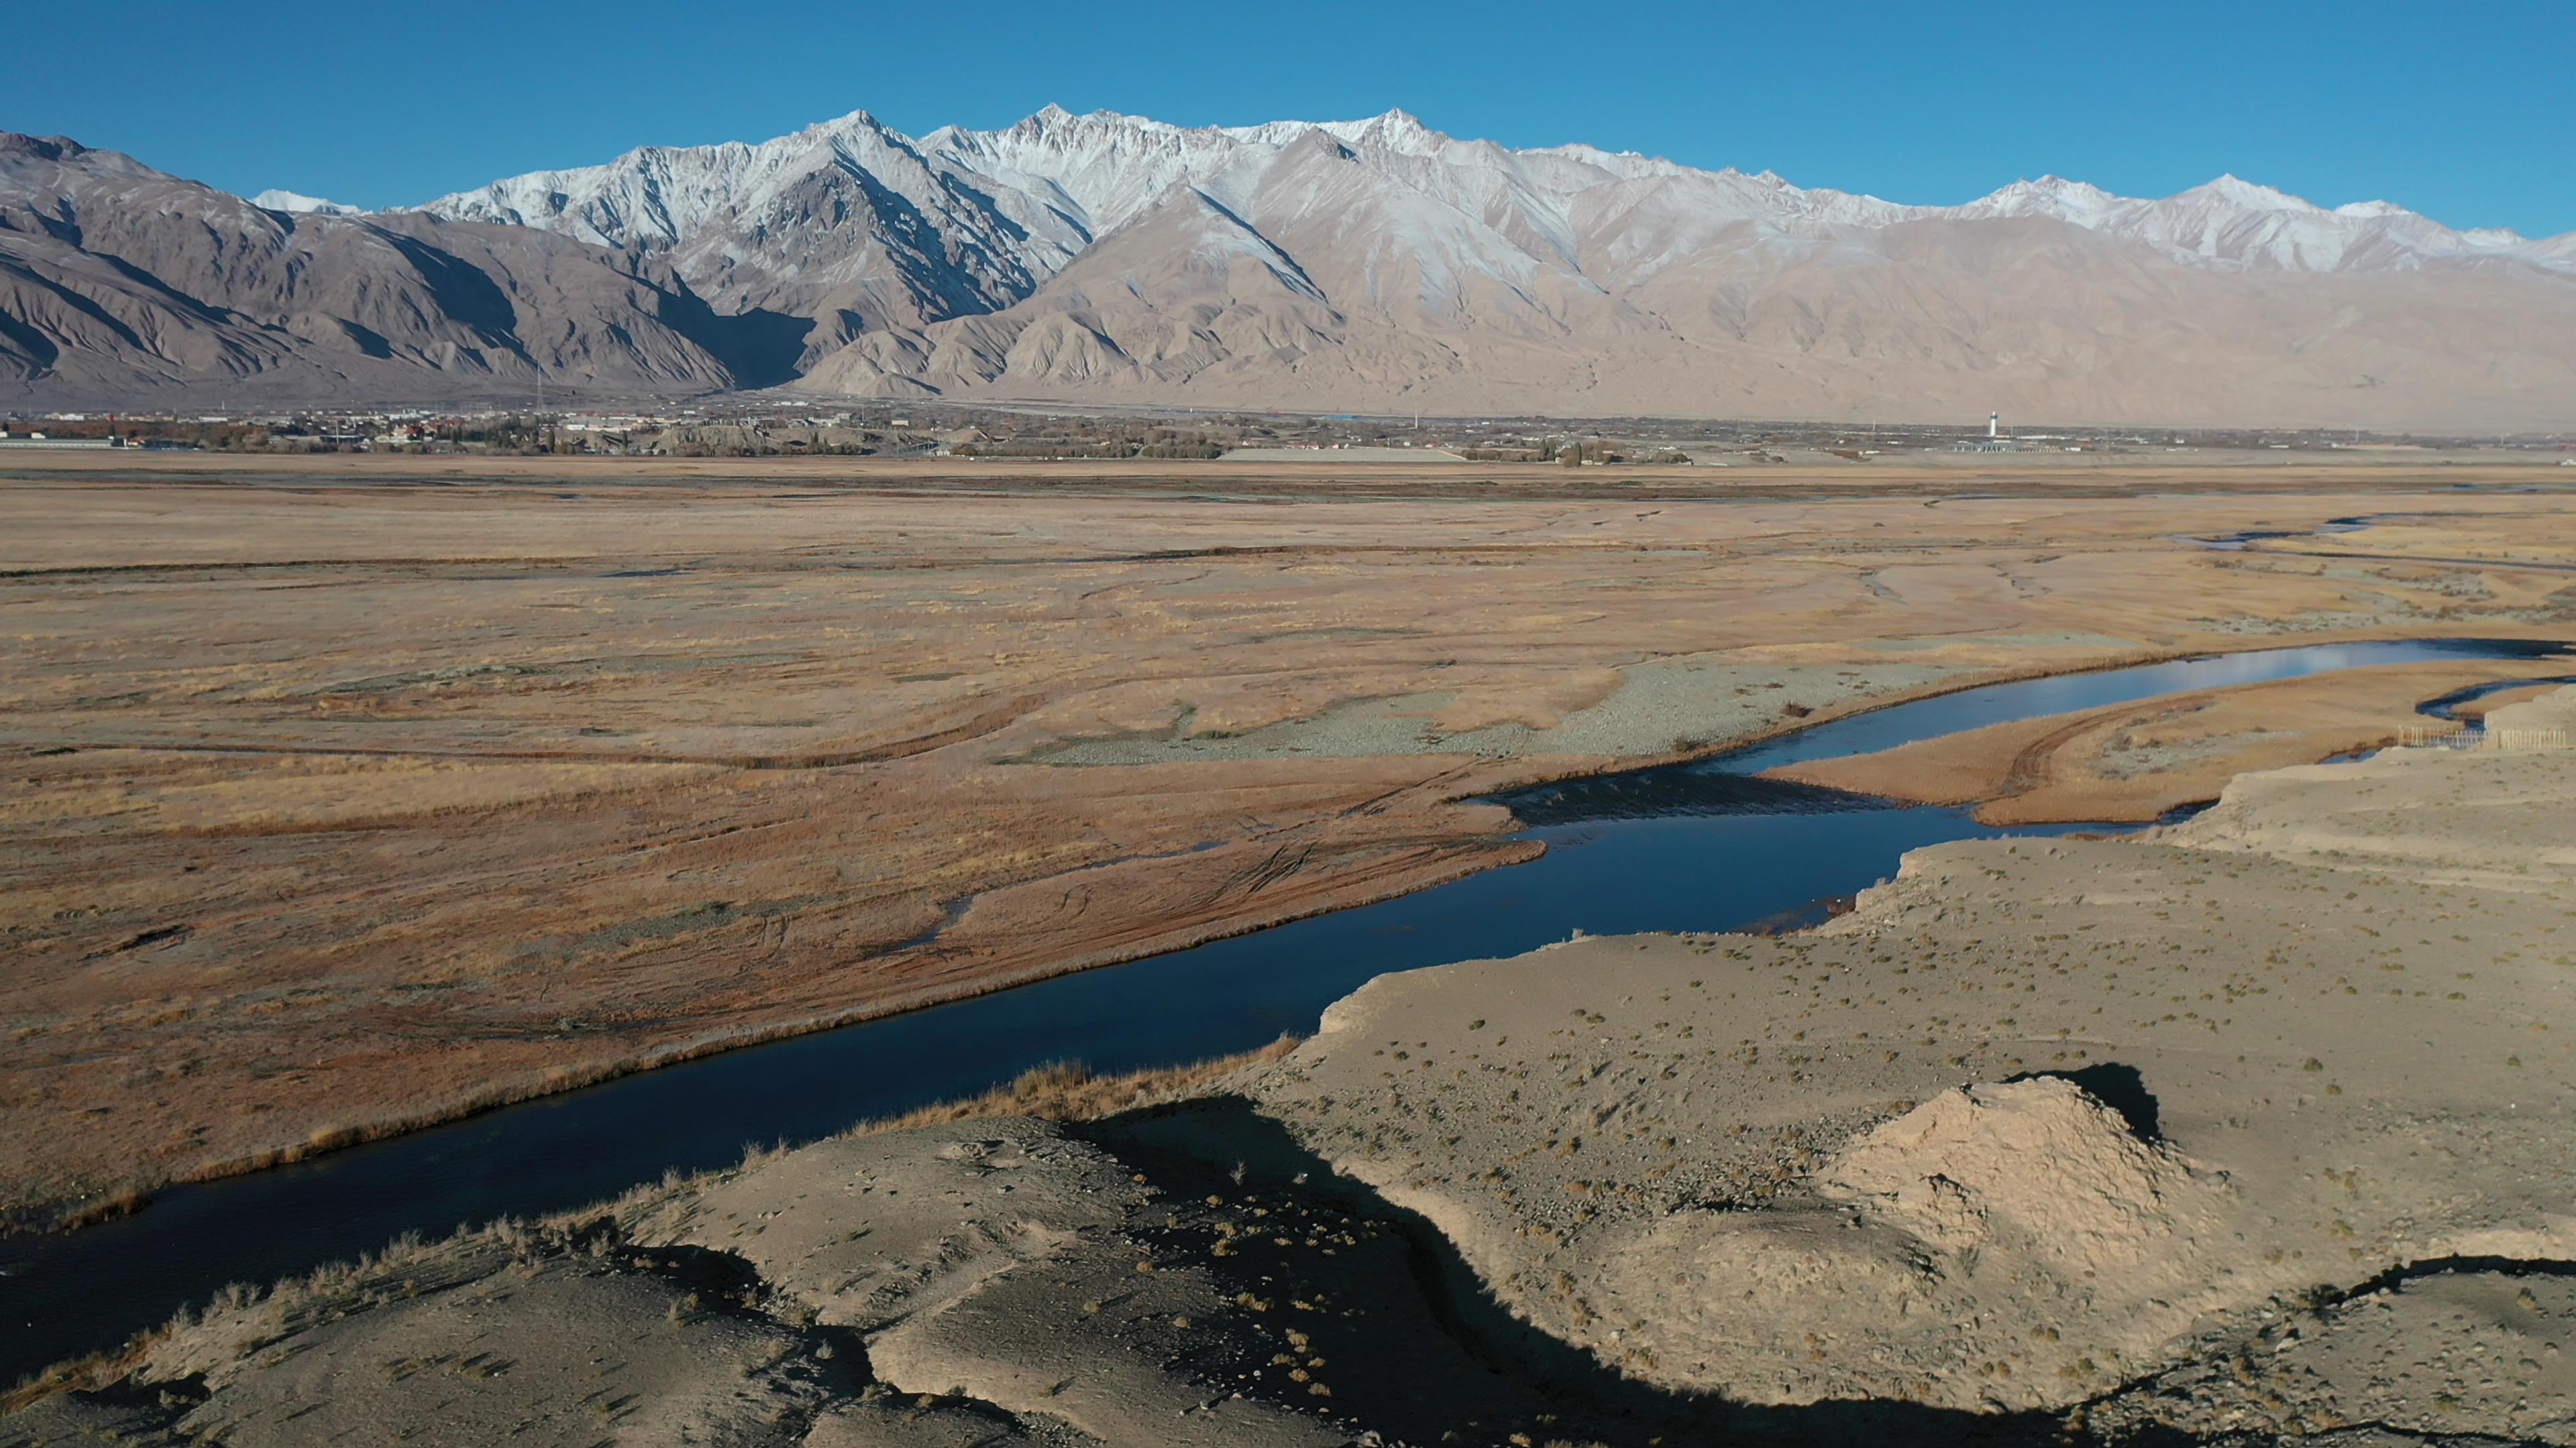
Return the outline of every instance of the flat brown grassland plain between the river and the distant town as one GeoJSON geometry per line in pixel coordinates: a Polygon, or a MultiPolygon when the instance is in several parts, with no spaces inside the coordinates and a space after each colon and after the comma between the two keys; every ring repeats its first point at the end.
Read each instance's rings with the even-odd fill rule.
{"type": "Polygon", "coordinates": [[[1502,863],[1504,814],[1455,804],[1489,788],[1978,678],[2576,616],[2522,567],[2566,554],[2548,497],[2385,466],[2184,502],[2092,466],[170,466],[0,487],[23,1221],[1502,863]],[[2439,513],[2378,551],[2488,562],[2249,569],[2177,510],[2439,513]],[[1409,734],[1342,727],[1383,701],[1409,734]],[[1036,763],[1139,739],[1211,757],[1036,763]]]}

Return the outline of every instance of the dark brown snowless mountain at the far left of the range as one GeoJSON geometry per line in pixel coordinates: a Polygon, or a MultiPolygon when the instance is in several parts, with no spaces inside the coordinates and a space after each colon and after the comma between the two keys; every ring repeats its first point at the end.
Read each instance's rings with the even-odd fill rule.
{"type": "Polygon", "coordinates": [[[0,397],[518,399],[541,376],[706,392],[775,381],[770,343],[793,358],[801,332],[526,227],[291,216],[0,134],[0,397]]]}

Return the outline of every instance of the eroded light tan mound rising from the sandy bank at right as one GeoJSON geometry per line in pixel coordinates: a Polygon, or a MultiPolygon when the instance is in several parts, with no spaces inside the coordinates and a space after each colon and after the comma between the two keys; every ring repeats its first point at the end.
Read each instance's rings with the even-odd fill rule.
{"type": "Polygon", "coordinates": [[[2063,1407],[2184,1327],[2223,1206],[2074,1082],[1984,1082],[1855,1136],[1775,1206],[1613,1237],[1597,1309],[1643,1322],[1659,1376],[1747,1402],[2063,1407]]]}

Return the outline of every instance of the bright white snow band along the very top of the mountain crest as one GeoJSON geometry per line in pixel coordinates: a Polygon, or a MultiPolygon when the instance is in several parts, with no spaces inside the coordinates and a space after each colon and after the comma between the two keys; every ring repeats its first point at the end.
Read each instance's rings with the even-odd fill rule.
{"type": "Polygon", "coordinates": [[[1309,137],[1340,142],[1363,165],[1481,222],[1502,247],[1553,265],[1579,265],[1584,211],[1669,188],[1708,222],[1752,222],[1783,232],[2050,216],[2200,265],[2360,271],[2421,265],[2432,258],[2519,258],[2576,268],[2568,245],[2535,245],[2504,229],[2455,232],[2388,201],[2324,209],[2233,175],[2161,201],[2045,175],[1965,206],[1904,206],[1844,191],[1806,191],[1767,170],[1695,170],[1582,144],[1510,149],[1461,142],[1404,111],[1365,121],[1170,126],[1113,111],[1072,116],[1048,106],[1002,131],[940,126],[920,139],[853,111],[760,144],[641,147],[608,165],[513,175],[412,209],[544,227],[613,247],[641,242],[683,250],[721,234],[737,250],[755,252],[811,240],[814,219],[799,211],[804,193],[822,175],[845,175],[902,198],[943,234],[971,237],[979,242],[969,247],[971,258],[1046,278],[1177,186],[1229,211],[1249,211],[1267,173],[1309,137]]]}

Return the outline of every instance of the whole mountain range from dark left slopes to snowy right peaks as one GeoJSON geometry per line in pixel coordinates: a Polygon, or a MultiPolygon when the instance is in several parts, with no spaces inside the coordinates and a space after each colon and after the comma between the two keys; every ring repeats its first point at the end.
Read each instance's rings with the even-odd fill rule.
{"type": "Polygon", "coordinates": [[[2576,234],[2221,178],[1965,206],[1368,121],[853,113],[397,211],[0,134],[0,399],[788,386],[1100,405],[2548,430],[2576,234]]]}

